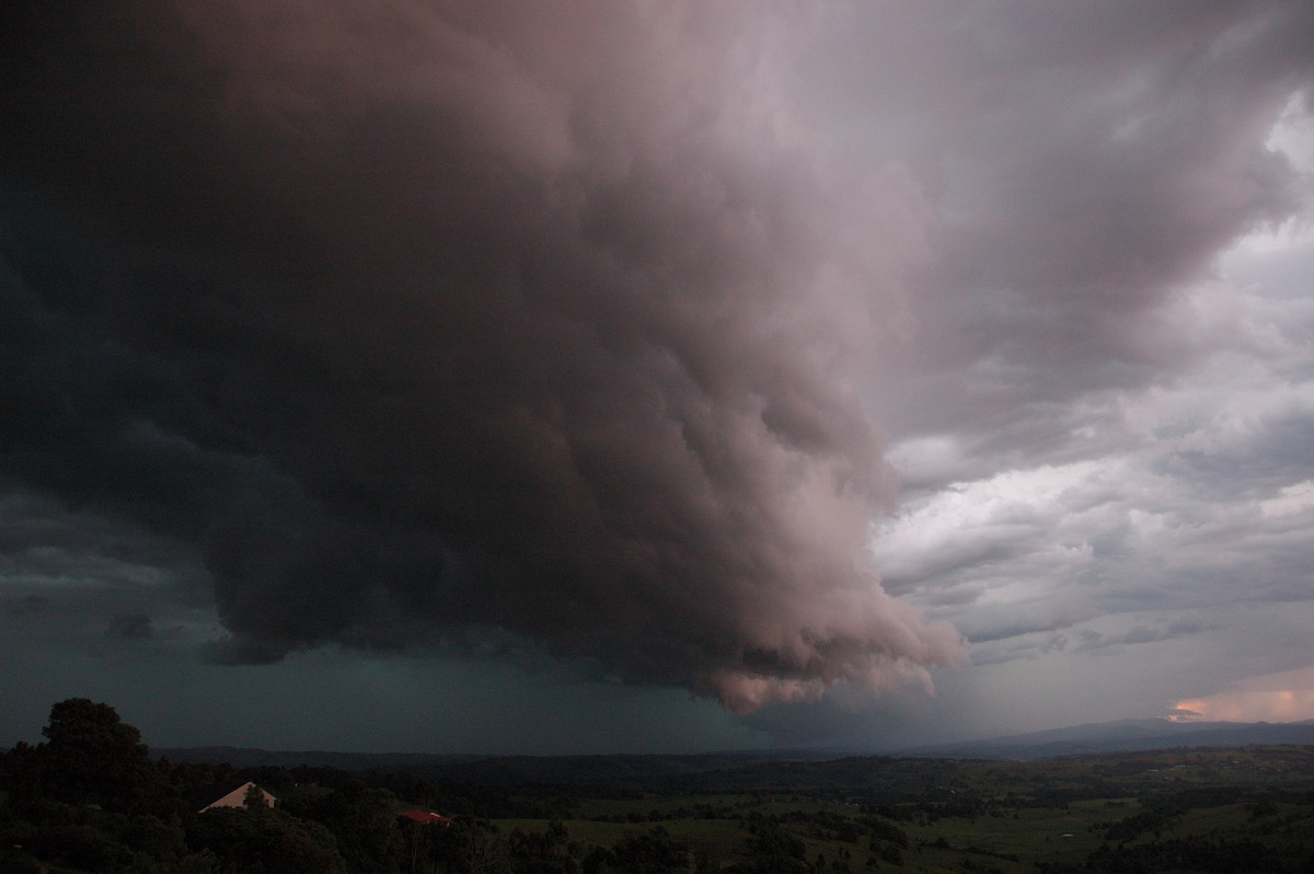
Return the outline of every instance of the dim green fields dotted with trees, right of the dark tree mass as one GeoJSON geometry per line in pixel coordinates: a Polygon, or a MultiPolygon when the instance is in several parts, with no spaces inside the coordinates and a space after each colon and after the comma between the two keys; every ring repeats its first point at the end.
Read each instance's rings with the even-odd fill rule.
{"type": "MultiPolygon", "coordinates": [[[[853,768],[848,786],[819,785],[800,769],[748,791],[587,798],[562,824],[585,850],[661,827],[716,867],[756,858],[754,829],[769,824],[796,841],[796,857],[802,846],[811,870],[834,873],[1104,871],[1123,856],[1151,860],[1133,870],[1152,871],[1169,870],[1152,860],[1181,856],[1183,846],[1206,856],[1215,846],[1271,852],[1290,866],[1267,869],[1256,858],[1252,870],[1302,871],[1314,848],[1307,748],[934,764],[922,781],[916,762],[890,765],[896,773],[879,778],[853,768]]],[[[497,825],[536,832],[548,821],[497,825]]],[[[1209,870],[1181,865],[1172,870],[1209,870]]]]}

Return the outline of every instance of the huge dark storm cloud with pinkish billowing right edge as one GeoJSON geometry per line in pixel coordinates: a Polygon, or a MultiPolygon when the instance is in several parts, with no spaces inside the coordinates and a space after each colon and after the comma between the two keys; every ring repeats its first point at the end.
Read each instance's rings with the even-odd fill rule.
{"type": "Polygon", "coordinates": [[[214,658],[489,627],[735,708],[959,660],[865,568],[916,187],[837,206],[779,16],[17,5],[3,476],[197,544],[214,658]]]}

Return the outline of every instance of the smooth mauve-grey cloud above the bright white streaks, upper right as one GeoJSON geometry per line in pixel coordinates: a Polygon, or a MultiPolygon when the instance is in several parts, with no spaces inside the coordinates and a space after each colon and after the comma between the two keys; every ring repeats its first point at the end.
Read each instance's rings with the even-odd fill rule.
{"type": "Polygon", "coordinates": [[[1018,452],[1046,452],[1064,435],[1046,439],[1024,407],[1144,386],[1214,352],[1158,314],[1236,235],[1307,202],[1307,180],[1265,137],[1310,84],[1314,26],[1303,4],[1016,9],[912,30],[916,47],[865,80],[879,106],[909,91],[904,78],[926,63],[907,57],[918,47],[961,64],[946,96],[926,97],[954,121],[929,149],[942,222],[909,290],[925,342],[888,352],[947,379],[928,384],[940,403],[879,398],[899,431],[1003,434],[1003,419],[1033,431],[1018,452]]]}

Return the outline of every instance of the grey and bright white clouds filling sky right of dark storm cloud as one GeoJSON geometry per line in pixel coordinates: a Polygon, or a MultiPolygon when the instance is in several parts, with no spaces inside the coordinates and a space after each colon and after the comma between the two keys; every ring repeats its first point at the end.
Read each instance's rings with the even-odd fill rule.
{"type": "Polygon", "coordinates": [[[891,591],[964,631],[978,668],[1204,652],[1212,635],[1189,620],[1100,626],[1099,645],[1075,630],[1309,597],[1293,534],[1307,515],[1259,509],[1310,478],[1292,453],[1309,446],[1303,292],[1240,292],[1215,256],[1307,216],[1307,173],[1267,138],[1314,79],[1310,8],[1013,11],[901,30],[924,57],[869,62],[845,106],[916,92],[900,78],[932,81],[926,57],[959,64],[942,96],[921,92],[953,110],[920,129],[941,222],[909,280],[918,342],[886,348],[897,379],[872,390],[905,474],[875,561],[891,591]],[[1158,430],[1175,407],[1183,431],[1158,430]],[[1074,476],[1083,464],[1102,476],[1074,476]]]}

